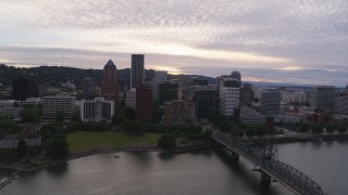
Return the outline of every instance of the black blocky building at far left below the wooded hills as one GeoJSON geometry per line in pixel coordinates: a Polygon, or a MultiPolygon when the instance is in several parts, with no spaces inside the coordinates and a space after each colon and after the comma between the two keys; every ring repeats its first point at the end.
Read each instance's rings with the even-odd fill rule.
{"type": "Polygon", "coordinates": [[[20,77],[12,81],[12,96],[16,101],[25,101],[27,98],[38,98],[39,86],[35,80],[20,77]]]}

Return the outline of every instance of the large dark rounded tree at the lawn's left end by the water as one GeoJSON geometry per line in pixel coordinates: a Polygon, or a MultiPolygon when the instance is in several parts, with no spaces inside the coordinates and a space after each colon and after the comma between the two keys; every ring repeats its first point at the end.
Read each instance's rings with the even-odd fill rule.
{"type": "Polygon", "coordinates": [[[64,135],[55,135],[46,155],[51,159],[64,159],[69,154],[69,144],[64,135]]]}

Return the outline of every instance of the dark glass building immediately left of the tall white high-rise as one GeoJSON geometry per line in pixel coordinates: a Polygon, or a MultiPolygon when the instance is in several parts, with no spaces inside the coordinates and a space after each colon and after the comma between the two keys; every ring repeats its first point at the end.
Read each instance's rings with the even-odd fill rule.
{"type": "Polygon", "coordinates": [[[219,91],[213,89],[197,90],[195,94],[197,117],[209,117],[219,113],[219,91]]]}

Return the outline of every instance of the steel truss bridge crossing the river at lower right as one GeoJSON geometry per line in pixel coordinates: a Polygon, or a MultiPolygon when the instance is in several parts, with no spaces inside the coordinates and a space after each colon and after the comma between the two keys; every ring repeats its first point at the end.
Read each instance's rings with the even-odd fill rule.
{"type": "Polygon", "coordinates": [[[243,143],[227,133],[214,131],[212,138],[233,152],[235,157],[243,156],[259,167],[261,179],[271,182],[271,178],[294,192],[303,195],[323,195],[322,187],[311,178],[277,159],[265,155],[264,151],[243,143]]]}

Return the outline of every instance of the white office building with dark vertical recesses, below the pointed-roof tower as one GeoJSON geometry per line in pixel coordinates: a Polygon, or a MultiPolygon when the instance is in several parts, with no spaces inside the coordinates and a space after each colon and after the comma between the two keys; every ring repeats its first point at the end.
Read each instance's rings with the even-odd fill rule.
{"type": "Polygon", "coordinates": [[[103,98],[83,100],[80,101],[79,112],[82,121],[111,121],[114,115],[114,102],[107,101],[103,98]]]}

